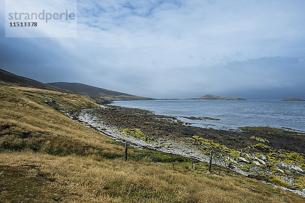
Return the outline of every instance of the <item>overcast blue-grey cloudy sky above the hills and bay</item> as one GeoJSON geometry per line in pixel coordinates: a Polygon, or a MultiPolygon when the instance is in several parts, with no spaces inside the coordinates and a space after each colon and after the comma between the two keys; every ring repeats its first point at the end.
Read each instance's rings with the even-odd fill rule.
{"type": "Polygon", "coordinates": [[[77,38],[5,38],[0,2],[0,68],[17,75],[156,98],[305,98],[303,0],[82,0],[77,38]]]}

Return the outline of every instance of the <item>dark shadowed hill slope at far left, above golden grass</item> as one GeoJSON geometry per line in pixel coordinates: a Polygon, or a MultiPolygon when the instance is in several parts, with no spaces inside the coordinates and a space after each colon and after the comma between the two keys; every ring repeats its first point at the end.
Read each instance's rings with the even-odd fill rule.
{"type": "Polygon", "coordinates": [[[32,88],[47,89],[47,90],[61,91],[61,92],[63,91],[63,89],[46,85],[42,82],[33,79],[18,76],[2,69],[0,69],[0,84],[6,84],[6,85],[10,84],[21,87],[32,87],[32,88]]]}

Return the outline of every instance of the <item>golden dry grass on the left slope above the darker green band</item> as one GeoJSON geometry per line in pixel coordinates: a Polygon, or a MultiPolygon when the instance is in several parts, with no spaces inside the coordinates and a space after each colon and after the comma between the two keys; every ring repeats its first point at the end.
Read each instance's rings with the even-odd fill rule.
{"type": "MultiPolygon", "coordinates": [[[[26,89],[28,90],[31,88],[26,89]]],[[[34,91],[37,91],[37,89],[33,89],[33,92],[34,91]]],[[[49,90],[40,91],[43,91],[46,94],[52,92],[49,90]]],[[[55,93],[53,92],[52,95],[55,93]]],[[[62,93],[58,92],[58,94],[62,93]]],[[[42,95],[43,94],[39,92],[36,98],[39,98],[42,95]]],[[[15,131],[47,132],[52,134],[52,136],[70,138],[86,145],[96,147],[101,146],[102,143],[105,143],[105,141],[108,140],[106,137],[102,137],[100,133],[73,121],[68,116],[63,115],[63,113],[56,112],[51,107],[43,105],[42,101],[33,101],[26,96],[27,95],[23,92],[1,87],[1,126],[12,126],[15,131]]],[[[82,99],[79,102],[80,105],[88,106],[93,104],[89,99],[85,102],[86,97],[80,98],[82,99]]],[[[68,104],[70,104],[69,101],[68,104]]]]}

